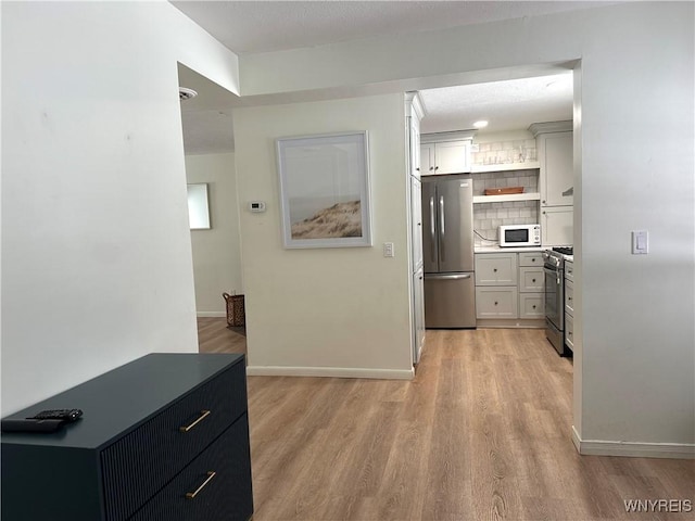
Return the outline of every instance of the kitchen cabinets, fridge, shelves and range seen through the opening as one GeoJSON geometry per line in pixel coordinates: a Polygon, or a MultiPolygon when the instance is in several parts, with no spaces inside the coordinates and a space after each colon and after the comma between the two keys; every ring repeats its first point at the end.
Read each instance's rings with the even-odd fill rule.
{"type": "Polygon", "coordinates": [[[427,91],[406,97],[417,107],[408,116],[410,193],[419,199],[412,219],[413,307],[424,306],[424,325],[418,329],[416,321],[415,328],[415,361],[425,329],[545,329],[548,348],[572,356],[569,79],[565,112],[558,113],[569,118],[543,120],[536,111],[538,119],[525,115],[531,118],[528,125],[518,118],[520,128],[488,130],[481,120],[473,129],[418,134],[413,120],[422,114],[416,127],[424,128],[428,107],[435,112],[437,102],[427,91]]]}

